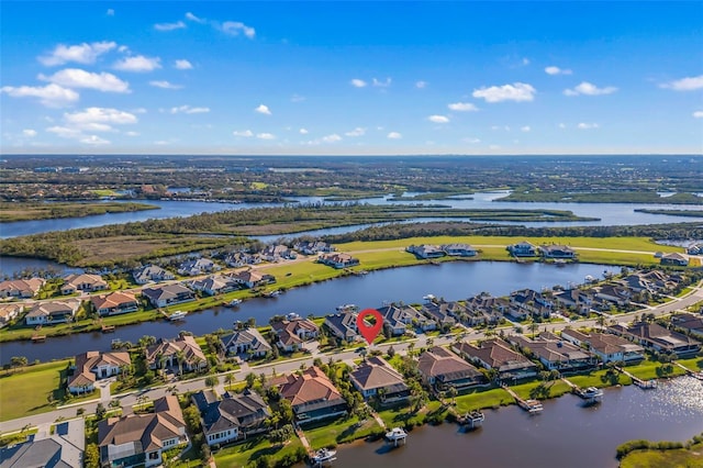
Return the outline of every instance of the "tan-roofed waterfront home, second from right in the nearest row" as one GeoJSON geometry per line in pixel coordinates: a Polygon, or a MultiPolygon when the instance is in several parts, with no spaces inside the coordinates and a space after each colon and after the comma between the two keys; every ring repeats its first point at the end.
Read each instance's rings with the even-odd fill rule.
{"type": "Polygon", "coordinates": [[[584,346],[596,355],[602,363],[626,364],[640,361],[645,358],[644,348],[636,343],[609,333],[581,333],[577,330],[565,328],[561,337],[577,346],[584,346]]]}

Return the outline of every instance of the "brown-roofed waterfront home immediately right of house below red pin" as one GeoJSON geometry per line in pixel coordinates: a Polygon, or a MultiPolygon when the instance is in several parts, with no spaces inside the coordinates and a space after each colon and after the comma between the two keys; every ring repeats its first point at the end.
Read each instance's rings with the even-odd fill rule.
{"type": "Polygon", "coordinates": [[[481,371],[440,346],[421,354],[417,368],[423,381],[438,391],[447,390],[449,387],[465,390],[486,382],[481,371]]]}

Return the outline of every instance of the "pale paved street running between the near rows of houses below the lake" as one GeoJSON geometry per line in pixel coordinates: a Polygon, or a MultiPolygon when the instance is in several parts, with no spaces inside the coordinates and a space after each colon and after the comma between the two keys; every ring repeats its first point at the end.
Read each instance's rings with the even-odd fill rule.
{"type": "MultiPolygon", "coordinates": [[[[629,312],[626,314],[618,314],[614,316],[609,316],[609,320],[616,320],[618,322],[632,322],[637,315],[643,313],[654,313],[656,316],[670,314],[677,310],[682,310],[688,308],[689,305],[693,305],[696,302],[703,301],[703,281],[701,281],[691,292],[689,292],[683,298],[674,298],[672,301],[667,302],[665,304],[659,304],[655,308],[646,308],[640,309],[634,312],[629,312]]],[[[557,332],[563,330],[567,326],[585,326],[585,327],[594,327],[596,326],[595,320],[580,320],[577,322],[558,322],[558,323],[548,323],[543,324],[539,327],[539,331],[549,331],[557,332]]],[[[505,333],[515,333],[514,327],[506,327],[505,333]]],[[[486,335],[482,332],[476,332],[468,328],[464,333],[464,339],[475,341],[483,338],[486,335]]],[[[444,336],[435,336],[428,338],[426,336],[421,336],[413,341],[406,341],[402,343],[392,343],[392,344],[381,344],[373,345],[371,349],[380,349],[383,353],[388,350],[390,346],[393,346],[397,353],[405,354],[408,352],[408,346],[410,343],[414,343],[415,349],[427,346],[427,339],[432,339],[434,345],[447,345],[456,341],[456,335],[444,335],[444,336]]],[[[352,363],[355,359],[359,359],[360,355],[357,348],[345,352],[333,352],[333,353],[319,353],[311,355],[306,358],[300,359],[291,359],[284,361],[278,361],[272,364],[265,364],[260,366],[249,367],[247,364],[244,364],[241,369],[234,371],[236,381],[243,381],[245,377],[249,372],[254,372],[256,375],[265,374],[266,376],[272,376],[275,372],[277,375],[280,374],[289,374],[294,370],[300,369],[301,367],[309,367],[313,364],[313,360],[320,357],[323,361],[327,361],[327,359],[342,360],[346,363],[352,363]]],[[[216,387],[216,390],[220,392],[223,391],[224,387],[224,374],[219,375],[220,383],[216,387]]],[[[45,424],[49,424],[55,422],[57,419],[71,419],[77,414],[78,409],[83,409],[86,413],[94,413],[96,406],[98,402],[102,402],[103,405],[108,406],[108,403],[112,399],[116,399],[120,401],[122,408],[125,413],[131,412],[131,408],[134,404],[137,404],[140,398],[147,398],[149,400],[154,400],[156,398],[164,397],[170,393],[170,389],[175,388],[178,393],[185,393],[188,391],[197,391],[205,388],[204,383],[205,377],[183,381],[183,382],[174,382],[169,385],[161,386],[159,388],[154,388],[147,391],[133,391],[129,394],[123,395],[110,395],[110,383],[113,379],[101,380],[98,382],[98,388],[100,389],[100,398],[93,400],[91,402],[86,403],[77,403],[67,408],[60,408],[55,411],[48,413],[36,414],[33,416],[20,417],[12,421],[4,421],[0,423],[0,433],[11,432],[11,431],[20,431],[22,427],[26,426],[43,426],[45,424]]]]}

